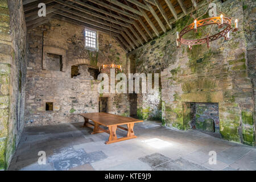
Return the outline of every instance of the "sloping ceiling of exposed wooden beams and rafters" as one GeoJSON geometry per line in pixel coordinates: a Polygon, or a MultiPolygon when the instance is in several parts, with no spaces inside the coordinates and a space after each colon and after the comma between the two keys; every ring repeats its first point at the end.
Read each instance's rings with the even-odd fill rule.
{"type": "Polygon", "coordinates": [[[205,0],[23,0],[27,28],[52,18],[105,32],[132,51],[172,28],[176,20],[205,5],[205,0]],[[38,4],[46,17],[38,17],[38,4]]]}

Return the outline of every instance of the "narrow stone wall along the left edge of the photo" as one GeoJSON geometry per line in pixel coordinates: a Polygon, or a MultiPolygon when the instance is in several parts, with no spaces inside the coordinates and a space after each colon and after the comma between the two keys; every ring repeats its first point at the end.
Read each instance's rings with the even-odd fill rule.
{"type": "Polygon", "coordinates": [[[0,169],[6,169],[23,130],[26,24],[22,1],[0,1],[0,169]]]}

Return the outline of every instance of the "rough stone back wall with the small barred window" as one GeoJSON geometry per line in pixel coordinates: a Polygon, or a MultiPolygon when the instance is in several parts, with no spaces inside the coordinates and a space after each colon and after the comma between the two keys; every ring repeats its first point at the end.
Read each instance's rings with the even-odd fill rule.
{"type": "Polygon", "coordinates": [[[99,97],[109,97],[109,113],[129,115],[127,96],[99,94],[99,81],[94,80],[88,70],[114,63],[121,64],[126,73],[125,51],[102,32],[98,32],[98,51],[85,49],[84,41],[84,27],[57,19],[28,31],[27,126],[83,121],[77,114],[98,112],[99,97]],[[44,56],[47,64],[47,53],[63,55],[62,71],[47,70],[48,67],[42,65],[44,56]],[[85,64],[79,67],[84,74],[71,78],[72,65],[81,64],[85,64]],[[53,111],[46,111],[46,102],[53,102],[53,111]]]}

